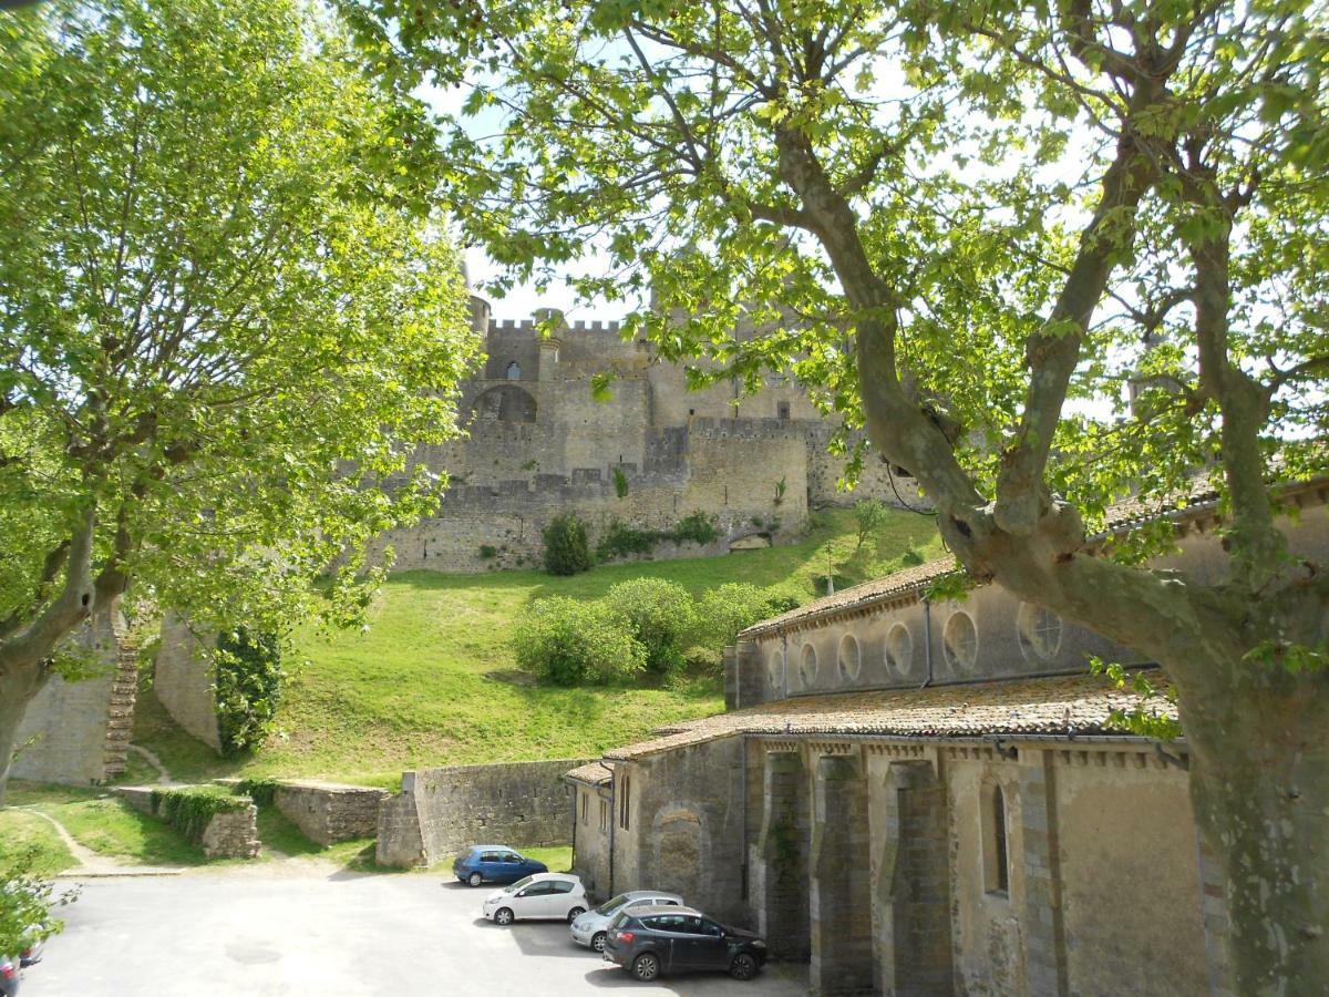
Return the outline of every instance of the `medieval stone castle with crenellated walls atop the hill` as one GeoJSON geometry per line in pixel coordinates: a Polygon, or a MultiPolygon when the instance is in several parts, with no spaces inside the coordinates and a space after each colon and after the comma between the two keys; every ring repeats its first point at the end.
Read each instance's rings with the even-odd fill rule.
{"type": "Polygon", "coordinates": [[[769,376],[758,395],[728,382],[690,391],[682,366],[646,340],[625,342],[617,322],[569,324],[553,310],[496,322],[486,300],[470,304],[486,360],[462,387],[466,436],[416,453],[452,487],[435,517],[385,537],[396,570],[538,564],[545,525],[566,510],[593,541],[615,521],[668,530],[695,512],[715,517],[719,541],[655,552],[670,557],[792,538],[819,505],[917,500],[913,481],[877,459],[853,492],[839,488],[844,460],[827,449],[835,423],[792,380],[769,376]],[[591,378],[602,372],[613,397],[597,401],[591,378]]]}

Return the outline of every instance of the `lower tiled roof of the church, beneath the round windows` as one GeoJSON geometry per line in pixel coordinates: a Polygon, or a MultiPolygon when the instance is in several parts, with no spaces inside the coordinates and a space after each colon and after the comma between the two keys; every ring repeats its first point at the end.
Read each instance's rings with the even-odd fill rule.
{"type": "MultiPolygon", "coordinates": [[[[1159,691],[1168,689],[1162,673],[1152,681],[1159,691]]],[[[657,731],[651,740],[607,751],[605,758],[642,758],[735,734],[910,738],[1120,734],[1108,727],[1110,714],[1139,703],[1130,689],[1115,689],[1107,678],[1083,673],[921,690],[796,697],[680,723],[657,731]]],[[[1164,699],[1151,703],[1151,709],[1176,719],[1176,707],[1164,699]]]]}

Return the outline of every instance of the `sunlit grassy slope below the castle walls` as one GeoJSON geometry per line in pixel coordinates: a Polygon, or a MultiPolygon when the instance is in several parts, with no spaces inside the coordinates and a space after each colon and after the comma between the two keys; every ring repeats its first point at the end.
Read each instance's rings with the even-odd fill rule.
{"type": "MultiPolygon", "coordinates": [[[[303,631],[307,663],[288,683],[279,734],[258,756],[223,763],[187,738],[153,697],[136,742],[179,779],[221,774],[304,775],[395,786],[403,768],[530,758],[591,756],[671,720],[723,709],[716,683],[672,689],[556,689],[510,681],[513,617],[542,596],[597,598],[627,578],[676,581],[694,594],[742,581],[813,598],[828,564],[837,586],[940,556],[933,521],[893,512],[861,549],[853,514],[821,513],[799,544],[691,561],[597,568],[571,578],[542,572],[395,576],[365,634],[303,631]],[[508,674],[504,674],[508,673],[508,674]]],[[[518,675],[518,678],[521,678],[518,675]]]]}

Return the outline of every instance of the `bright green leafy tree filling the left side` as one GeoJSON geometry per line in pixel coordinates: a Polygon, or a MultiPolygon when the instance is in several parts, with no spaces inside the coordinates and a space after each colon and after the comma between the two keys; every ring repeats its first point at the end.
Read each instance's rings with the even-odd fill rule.
{"type": "Polygon", "coordinates": [[[336,23],[56,0],[0,32],[3,794],[27,703],[130,584],[218,630],[355,622],[367,541],[439,488],[397,441],[453,433],[477,344],[424,116],[336,23]]]}

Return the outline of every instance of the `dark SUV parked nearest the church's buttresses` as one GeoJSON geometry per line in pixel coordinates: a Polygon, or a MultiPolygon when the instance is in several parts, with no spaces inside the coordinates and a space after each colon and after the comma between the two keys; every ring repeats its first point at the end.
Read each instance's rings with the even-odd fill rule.
{"type": "Polygon", "coordinates": [[[723,969],[735,980],[751,980],[766,964],[766,942],[690,907],[634,907],[609,925],[605,958],[638,980],[690,969],[723,969]]]}

